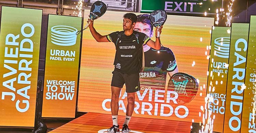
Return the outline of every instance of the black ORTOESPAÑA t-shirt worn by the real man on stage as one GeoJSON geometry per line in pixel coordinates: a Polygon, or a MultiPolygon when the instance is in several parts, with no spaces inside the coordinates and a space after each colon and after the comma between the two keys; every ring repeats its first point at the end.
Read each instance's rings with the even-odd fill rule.
{"type": "Polygon", "coordinates": [[[125,35],[124,31],[120,32],[123,33],[120,39],[118,39],[118,31],[107,35],[107,39],[110,42],[112,41],[115,46],[117,43],[114,71],[126,74],[140,73],[139,52],[141,52],[142,45],[146,44],[150,38],[138,31],[133,31],[129,36],[125,35]],[[136,33],[138,33],[138,39],[136,38],[136,33]]]}

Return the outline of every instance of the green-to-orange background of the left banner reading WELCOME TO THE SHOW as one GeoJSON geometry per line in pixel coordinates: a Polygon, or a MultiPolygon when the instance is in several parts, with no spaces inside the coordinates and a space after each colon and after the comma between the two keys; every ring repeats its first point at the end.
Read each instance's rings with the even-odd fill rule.
{"type": "MultiPolygon", "coordinates": [[[[81,30],[82,18],[73,16],[61,16],[51,15],[48,16],[48,31],[47,31],[47,47],[46,47],[46,58],[45,58],[45,77],[44,77],[44,95],[43,95],[43,106],[42,106],[42,117],[54,117],[54,118],[74,118],[75,117],[75,105],[76,105],[76,90],[77,90],[77,79],[78,79],[78,67],[79,67],[79,55],[80,55],[80,42],[81,34],[77,35],[76,44],[72,46],[59,46],[51,42],[51,28],[53,26],[71,26],[76,28],[78,31],[81,30]],[[50,60],[50,50],[69,50],[75,51],[74,61],[62,61],[50,60]],[[75,90],[72,101],[70,100],[47,100],[47,80],[67,80],[75,81],[75,90]]],[[[58,56],[55,56],[58,57],[58,56]]],[[[51,91],[50,91],[51,92],[51,91]]],[[[61,92],[60,87],[56,92],[61,92]]],[[[71,93],[72,94],[72,93],[71,93]]]]}

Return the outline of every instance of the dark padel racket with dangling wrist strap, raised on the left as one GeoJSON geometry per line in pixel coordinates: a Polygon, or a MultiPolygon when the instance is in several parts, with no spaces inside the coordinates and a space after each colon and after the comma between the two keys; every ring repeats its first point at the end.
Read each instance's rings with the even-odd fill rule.
{"type": "MultiPolygon", "coordinates": [[[[91,10],[90,10],[90,18],[92,20],[98,19],[101,17],[105,12],[106,12],[107,6],[105,3],[101,1],[96,1],[91,5],[91,10]]],[[[89,23],[86,24],[83,30],[87,29],[87,27],[90,25],[89,23]]],[[[81,31],[76,32],[76,35],[78,35],[81,31]]]]}

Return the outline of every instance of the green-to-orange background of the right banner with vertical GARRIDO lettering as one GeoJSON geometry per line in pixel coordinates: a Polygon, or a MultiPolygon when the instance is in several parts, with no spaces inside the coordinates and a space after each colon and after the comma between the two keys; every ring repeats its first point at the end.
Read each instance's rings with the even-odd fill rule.
{"type": "MultiPolygon", "coordinates": [[[[241,94],[237,94],[236,92],[231,93],[231,90],[233,88],[235,88],[234,85],[232,85],[232,82],[243,82],[244,83],[244,79],[239,80],[237,78],[232,79],[233,75],[236,74],[236,71],[233,71],[233,68],[242,68],[245,69],[245,65],[246,65],[246,60],[244,63],[241,63],[237,66],[234,67],[234,63],[237,62],[237,57],[234,55],[234,53],[238,53],[239,55],[243,56],[243,57],[247,57],[247,49],[244,51],[243,50],[243,44],[244,43],[239,43],[238,44],[238,48],[241,48],[241,51],[236,51],[235,49],[235,44],[237,42],[238,39],[244,39],[246,40],[246,42],[248,41],[248,33],[249,33],[249,24],[238,24],[238,23],[233,23],[232,27],[231,27],[231,38],[230,38],[230,51],[229,51],[229,67],[228,67],[228,80],[227,80],[227,93],[226,93],[226,107],[225,107],[225,118],[224,118],[224,133],[228,133],[228,132],[233,132],[233,133],[238,133],[240,132],[240,130],[238,131],[232,131],[229,128],[229,119],[235,115],[233,115],[230,111],[230,102],[234,101],[234,102],[242,102],[241,100],[234,100],[231,99],[231,95],[238,95],[238,96],[242,96],[243,97],[243,93],[241,94]]],[[[240,59],[241,60],[241,59],[240,59]]],[[[241,73],[239,73],[239,75],[241,76],[241,73]]],[[[238,87],[238,90],[240,90],[240,86],[238,87]]],[[[233,106],[233,109],[235,111],[239,110],[238,106],[233,106]]],[[[237,117],[241,120],[241,116],[242,113],[240,115],[238,115],[237,117]]],[[[233,127],[237,127],[238,123],[237,122],[232,122],[232,126],[233,127]]]]}

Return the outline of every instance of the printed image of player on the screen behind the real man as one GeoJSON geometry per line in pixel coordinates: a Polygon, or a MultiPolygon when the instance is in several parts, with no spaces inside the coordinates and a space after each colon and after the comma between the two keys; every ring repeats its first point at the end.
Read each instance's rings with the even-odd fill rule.
{"type": "MultiPolygon", "coordinates": [[[[145,33],[150,38],[153,37],[153,25],[150,22],[150,15],[137,15],[137,23],[134,27],[135,31],[145,33]]],[[[175,56],[172,50],[168,47],[163,47],[159,50],[151,48],[143,44],[145,56],[145,68],[140,73],[141,89],[158,89],[165,90],[167,73],[171,77],[178,72],[175,56]]]]}

